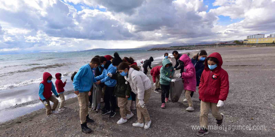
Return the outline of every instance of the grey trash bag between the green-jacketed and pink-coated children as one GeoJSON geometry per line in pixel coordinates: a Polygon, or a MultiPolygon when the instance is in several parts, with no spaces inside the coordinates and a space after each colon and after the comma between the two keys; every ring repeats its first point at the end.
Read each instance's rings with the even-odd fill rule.
{"type": "Polygon", "coordinates": [[[178,102],[184,87],[182,78],[173,77],[172,79],[176,79],[176,81],[170,82],[170,98],[172,102],[175,103],[178,102]]]}

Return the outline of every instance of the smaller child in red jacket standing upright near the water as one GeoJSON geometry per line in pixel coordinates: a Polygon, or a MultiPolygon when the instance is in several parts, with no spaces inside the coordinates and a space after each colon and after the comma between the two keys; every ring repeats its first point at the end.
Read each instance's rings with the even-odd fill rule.
{"type": "Polygon", "coordinates": [[[64,87],[67,83],[67,79],[65,80],[65,82],[63,83],[61,78],[62,78],[62,74],[61,73],[56,73],[55,74],[55,78],[56,78],[56,81],[55,81],[55,86],[56,86],[56,89],[57,89],[57,92],[58,92],[58,95],[60,96],[60,106],[59,106],[59,109],[58,111],[64,111],[66,106],[64,106],[64,102],[65,102],[65,97],[64,97],[64,87]]]}

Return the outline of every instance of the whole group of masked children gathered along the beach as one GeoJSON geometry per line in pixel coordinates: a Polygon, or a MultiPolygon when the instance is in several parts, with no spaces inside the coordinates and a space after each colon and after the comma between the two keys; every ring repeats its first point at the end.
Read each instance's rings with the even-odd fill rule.
{"type": "MultiPolygon", "coordinates": [[[[92,123],[93,120],[89,118],[88,106],[89,96],[95,94],[93,92],[95,88],[100,88],[98,90],[100,92],[104,89],[103,100],[105,106],[102,109],[102,115],[110,114],[109,117],[114,117],[118,105],[121,118],[117,121],[117,124],[123,124],[133,117],[134,114],[131,109],[136,109],[138,122],[132,125],[148,129],[151,125],[151,119],[146,104],[151,95],[151,81],[146,75],[148,72],[147,67],[151,69],[154,91],[159,93],[159,90],[161,90],[161,108],[165,108],[165,103],[169,102],[170,82],[176,81],[173,76],[175,70],[180,69],[180,73],[176,74],[176,77],[183,79],[186,97],[184,102],[189,105],[187,111],[194,111],[192,96],[196,92],[196,86],[199,89],[199,99],[201,100],[200,125],[202,129],[198,131],[197,135],[208,134],[209,109],[216,118],[217,124],[221,125],[224,115],[219,112],[219,107],[223,106],[223,101],[226,100],[229,90],[228,74],[221,68],[221,55],[212,53],[207,57],[205,50],[201,50],[192,59],[189,58],[189,55],[179,54],[177,51],[173,51],[172,54],[176,59],[174,67],[171,57],[168,56],[168,53],[165,53],[161,66],[151,69],[153,57],[144,61],[144,64],[140,66],[144,69],[144,72],[140,71],[133,58],[120,58],[118,53],[115,53],[114,57],[110,55],[96,56],[89,64],[82,66],[77,73],[72,75],[74,93],[78,96],[80,107],[79,115],[82,131],[85,133],[91,132],[87,123],[92,123]]],[[[63,103],[65,100],[63,87],[66,81],[63,83],[61,78],[61,74],[57,73],[56,87],[58,91],[56,92],[51,82],[52,75],[47,72],[43,74],[43,81],[39,87],[39,97],[47,109],[47,115],[58,113],[55,111],[58,100],[52,97],[51,91],[56,97],[61,97],[59,111],[66,108],[63,103]],[[54,103],[53,107],[49,105],[49,101],[54,103]]],[[[101,93],[96,96],[101,97],[101,93]]],[[[98,112],[100,101],[96,105],[97,107],[92,107],[91,111],[98,112]]]]}

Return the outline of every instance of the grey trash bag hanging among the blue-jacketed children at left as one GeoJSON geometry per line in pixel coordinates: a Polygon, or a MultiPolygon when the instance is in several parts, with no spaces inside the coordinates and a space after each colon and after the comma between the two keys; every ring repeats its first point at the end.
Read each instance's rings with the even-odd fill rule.
{"type": "Polygon", "coordinates": [[[93,83],[92,110],[97,109],[97,106],[100,107],[101,96],[102,96],[102,87],[100,85],[96,85],[93,83]]]}

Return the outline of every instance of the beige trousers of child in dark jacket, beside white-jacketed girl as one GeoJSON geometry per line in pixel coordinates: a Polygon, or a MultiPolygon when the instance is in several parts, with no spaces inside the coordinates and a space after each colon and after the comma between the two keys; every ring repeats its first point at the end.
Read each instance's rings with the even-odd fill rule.
{"type": "Polygon", "coordinates": [[[128,100],[128,98],[118,97],[118,107],[120,116],[123,119],[126,119],[127,114],[131,114],[130,106],[132,100],[128,100]]]}

